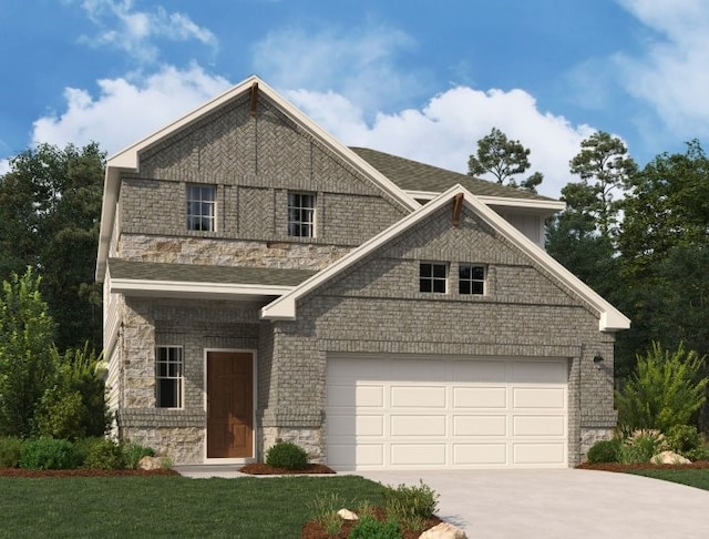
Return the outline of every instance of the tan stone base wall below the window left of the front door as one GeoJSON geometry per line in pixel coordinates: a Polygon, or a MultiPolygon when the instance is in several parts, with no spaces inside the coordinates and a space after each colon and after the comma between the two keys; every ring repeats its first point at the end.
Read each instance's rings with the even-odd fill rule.
{"type": "Polygon", "coordinates": [[[175,465],[204,462],[205,430],[202,427],[124,427],[120,439],[152,447],[175,465]]]}

